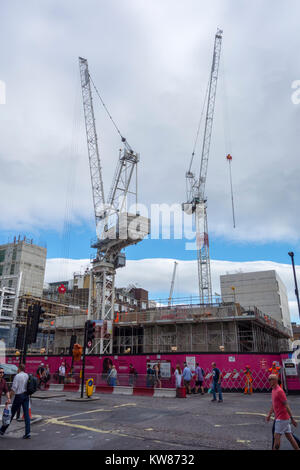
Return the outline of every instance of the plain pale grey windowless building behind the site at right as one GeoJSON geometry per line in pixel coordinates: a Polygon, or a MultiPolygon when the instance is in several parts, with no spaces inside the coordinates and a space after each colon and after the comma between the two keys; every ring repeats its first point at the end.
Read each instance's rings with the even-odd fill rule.
{"type": "Polygon", "coordinates": [[[275,270],[226,274],[220,276],[220,284],[224,302],[237,302],[245,309],[255,306],[292,333],[287,290],[275,270]]]}

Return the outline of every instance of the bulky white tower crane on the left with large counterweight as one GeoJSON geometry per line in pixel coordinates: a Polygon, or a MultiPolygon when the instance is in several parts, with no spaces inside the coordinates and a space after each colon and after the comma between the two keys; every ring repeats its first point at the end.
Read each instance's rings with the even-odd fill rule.
{"type": "Polygon", "coordinates": [[[112,354],[116,269],[125,266],[126,258],[122,250],[138,243],[150,232],[150,221],[136,211],[127,212],[129,194],[135,196],[137,209],[137,178],[132,190],[130,183],[134,171],[137,174],[139,154],[132,150],[110,115],[121,136],[123,149],[120,150],[109,196],[105,200],[91,85],[102,99],[90,76],[88,62],[82,57],[79,57],[79,69],[97,233],[97,239],[91,245],[97,250],[92,261],[90,283],[93,290],[95,280],[96,293],[93,306],[91,300],[89,302],[89,318],[102,320],[100,354],[112,354]]]}

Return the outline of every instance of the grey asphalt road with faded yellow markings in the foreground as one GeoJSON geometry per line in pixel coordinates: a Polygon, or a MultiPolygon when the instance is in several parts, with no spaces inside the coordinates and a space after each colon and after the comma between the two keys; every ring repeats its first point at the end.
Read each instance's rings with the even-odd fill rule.
{"type": "MultiPolygon", "coordinates": [[[[39,392],[32,399],[31,440],[24,424],[13,421],[0,449],[5,450],[269,450],[272,420],[265,416],[270,394],[225,393],[186,399],[94,395],[95,401],[67,401],[79,394],[39,392]],[[48,398],[38,398],[47,397],[48,398]],[[51,398],[50,398],[51,396],[51,398]]],[[[300,423],[300,400],[288,396],[300,423]]],[[[2,407],[3,408],[3,407],[2,407]]],[[[2,414],[2,408],[0,408],[2,414]]],[[[300,436],[299,428],[295,433],[300,436]]],[[[291,449],[285,437],[281,449],[291,449]]]]}

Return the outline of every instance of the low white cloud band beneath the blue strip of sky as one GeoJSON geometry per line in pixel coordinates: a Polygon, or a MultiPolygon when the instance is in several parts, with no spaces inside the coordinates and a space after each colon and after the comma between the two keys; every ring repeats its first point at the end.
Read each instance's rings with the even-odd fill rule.
{"type": "MultiPolygon", "coordinates": [[[[117,287],[127,287],[135,284],[149,291],[149,297],[159,295],[167,299],[171,286],[174,259],[152,258],[142,260],[127,260],[126,267],[119,269],[116,276],[117,287]]],[[[197,296],[197,266],[196,261],[178,261],[174,298],[179,296],[197,296]]],[[[67,280],[74,272],[83,271],[90,264],[89,260],[48,259],[46,264],[45,282],[67,280]]],[[[295,287],[290,265],[271,261],[232,262],[211,260],[213,293],[220,294],[220,275],[235,272],[251,272],[275,270],[287,288],[291,321],[299,322],[295,287]]],[[[300,279],[300,266],[296,266],[297,277],[300,279]]]]}

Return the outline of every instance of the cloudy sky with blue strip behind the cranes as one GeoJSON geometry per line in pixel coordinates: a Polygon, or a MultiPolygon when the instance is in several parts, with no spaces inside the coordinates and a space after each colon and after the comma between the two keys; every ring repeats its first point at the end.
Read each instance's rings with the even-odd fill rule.
{"type": "MultiPolygon", "coordinates": [[[[300,265],[300,104],[292,100],[292,84],[300,80],[299,14],[296,0],[1,2],[0,242],[20,233],[46,244],[49,262],[90,258],[95,227],[78,56],[88,59],[102,98],[140,153],[140,202],[183,202],[219,27],[224,35],[206,183],[213,279],[222,269],[250,270],[249,262],[264,262],[259,269],[277,263],[278,272],[287,273],[293,307],[287,252],[294,251],[300,265]]],[[[120,141],[96,96],[94,104],[107,194],[120,141]]],[[[200,144],[201,138],[196,171],[200,144]]],[[[146,240],[127,250],[129,261],[152,260],[154,280],[167,277],[166,266],[171,278],[173,259],[195,257],[185,240],[146,240]]],[[[118,274],[120,282],[130,280],[130,266],[118,274]]],[[[196,269],[185,266],[180,292],[188,293],[196,269]]],[[[150,280],[135,278],[158,294],[150,280]]]]}

